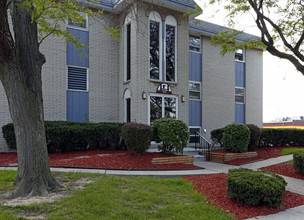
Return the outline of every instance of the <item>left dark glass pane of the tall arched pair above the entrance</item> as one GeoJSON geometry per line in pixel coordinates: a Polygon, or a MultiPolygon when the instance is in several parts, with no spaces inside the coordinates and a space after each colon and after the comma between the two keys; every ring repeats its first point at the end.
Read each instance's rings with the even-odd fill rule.
{"type": "Polygon", "coordinates": [[[159,79],[160,74],[160,23],[150,21],[150,79],[159,79]]]}

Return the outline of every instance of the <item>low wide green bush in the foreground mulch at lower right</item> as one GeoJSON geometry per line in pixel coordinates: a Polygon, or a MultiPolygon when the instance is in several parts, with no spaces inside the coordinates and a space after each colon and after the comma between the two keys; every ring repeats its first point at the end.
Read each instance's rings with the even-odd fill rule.
{"type": "Polygon", "coordinates": [[[228,172],[227,195],[244,204],[278,207],[286,185],[282,177],[268,171],[232,169],[228,172]]]}

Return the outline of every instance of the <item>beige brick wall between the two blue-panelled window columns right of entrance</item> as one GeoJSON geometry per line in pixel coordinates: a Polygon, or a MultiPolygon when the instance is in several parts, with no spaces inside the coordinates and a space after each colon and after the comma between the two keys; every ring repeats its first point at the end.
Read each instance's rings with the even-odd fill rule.
{"type": "Polygon", "coordinates": [[[202,129],[210,131],[234,122],[234,54],[220,54],[220,47],[202,39],[202,129]]]}

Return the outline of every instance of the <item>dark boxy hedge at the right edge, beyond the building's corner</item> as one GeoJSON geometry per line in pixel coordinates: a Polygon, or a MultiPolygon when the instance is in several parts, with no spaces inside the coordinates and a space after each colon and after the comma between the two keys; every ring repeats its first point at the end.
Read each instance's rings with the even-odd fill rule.
{"type": "Polygon", "coordinates": [[[304,129],[262,128],[260,146],[304,146],[304,129]]]}

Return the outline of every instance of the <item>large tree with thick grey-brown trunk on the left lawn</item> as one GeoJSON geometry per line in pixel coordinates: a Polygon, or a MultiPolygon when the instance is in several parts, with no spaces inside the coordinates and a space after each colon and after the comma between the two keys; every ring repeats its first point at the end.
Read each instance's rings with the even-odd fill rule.
{"type": "Polygon", "coordinates": [[[82,22],[84,13],[92,15],[91,10],[71,0],[0,0],[0,80],[14,123],[18,154],[14,196],[45,195],[60,186],[49,167],[41,80],[46,60],[39,46],[52,34],[83,47],[65,24],[69,19],[82,22]]]}

